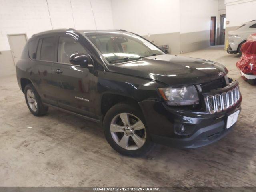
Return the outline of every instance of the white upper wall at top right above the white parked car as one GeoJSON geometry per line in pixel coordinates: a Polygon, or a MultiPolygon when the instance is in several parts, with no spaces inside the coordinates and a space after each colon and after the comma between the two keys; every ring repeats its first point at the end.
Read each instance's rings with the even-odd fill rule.
{"type": "Polygon", "coordinates": [[[256,0],[225,0],[227,27],[256,19],[256,0]]]}

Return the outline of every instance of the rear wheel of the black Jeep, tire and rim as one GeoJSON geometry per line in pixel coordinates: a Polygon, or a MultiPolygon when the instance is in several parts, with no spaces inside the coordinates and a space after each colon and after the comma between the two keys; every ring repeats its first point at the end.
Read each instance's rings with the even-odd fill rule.
{"type": "Polygon", "coordinates": [[[41,98],[32,84],[26,85],[24,94],[28,109],[34,116],[46,114],[48,107],[42,104],[41,98]]]}

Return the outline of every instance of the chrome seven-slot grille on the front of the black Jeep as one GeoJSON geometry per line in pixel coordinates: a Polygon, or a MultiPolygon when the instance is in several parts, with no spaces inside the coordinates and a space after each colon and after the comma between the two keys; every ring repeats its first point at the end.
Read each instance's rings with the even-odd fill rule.
{"type": "Polygon", "coordinates": [[[211,114],[215,112],[225,111],[232,107],[240,99],[239,87],[235,87],[228,92],[210,95],[206,97],[207,108],[211,114]]]}

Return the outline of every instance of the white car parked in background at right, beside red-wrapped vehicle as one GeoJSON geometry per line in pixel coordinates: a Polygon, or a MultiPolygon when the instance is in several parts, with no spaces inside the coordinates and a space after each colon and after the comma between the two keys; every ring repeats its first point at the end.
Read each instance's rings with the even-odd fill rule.
{"type": "Polygon", "coordinates": [[[246,42],[246,39],[250,34],[256,33],[256,20],[243,23],[242,26],[234,31],[228,32],[228,53],[239,53],[241,52],[241,45],[246,42]]]}

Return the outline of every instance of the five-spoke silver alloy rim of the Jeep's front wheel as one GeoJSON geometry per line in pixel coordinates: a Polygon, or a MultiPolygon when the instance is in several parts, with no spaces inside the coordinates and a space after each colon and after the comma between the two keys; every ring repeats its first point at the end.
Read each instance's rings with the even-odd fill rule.
{"type": "Polygon", "coordinates": [[[146,128],[133,114],[120,113],[111,121],[110,132],[114,141],[126,150],[141,148],[146,142],[146,128]]]}

